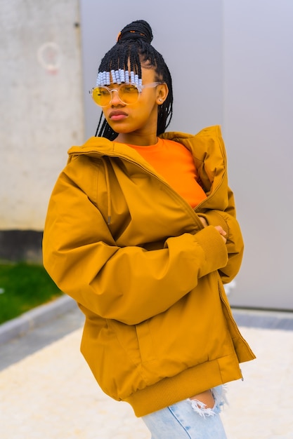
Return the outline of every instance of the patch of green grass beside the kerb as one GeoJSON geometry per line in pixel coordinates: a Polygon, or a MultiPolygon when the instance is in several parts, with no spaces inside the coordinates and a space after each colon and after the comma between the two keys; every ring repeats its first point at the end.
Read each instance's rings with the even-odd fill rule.
{"type": "Polygon", "coordinates": [[[0,324],[62,294],[43,266],[0,263],[0,324]]]}

